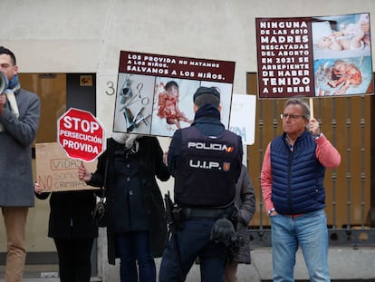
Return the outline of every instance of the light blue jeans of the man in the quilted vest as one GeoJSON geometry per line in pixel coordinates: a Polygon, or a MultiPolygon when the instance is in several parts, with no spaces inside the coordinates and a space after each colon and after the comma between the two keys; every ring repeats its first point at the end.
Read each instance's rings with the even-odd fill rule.
{"type": "Polygon", "coordinates": [[[271,217],[274,282],[294,281],[295,253],[303,252],[310,281],[331,281],[328,270],[328,229],[324,210],[292,218],[271,217]]]}

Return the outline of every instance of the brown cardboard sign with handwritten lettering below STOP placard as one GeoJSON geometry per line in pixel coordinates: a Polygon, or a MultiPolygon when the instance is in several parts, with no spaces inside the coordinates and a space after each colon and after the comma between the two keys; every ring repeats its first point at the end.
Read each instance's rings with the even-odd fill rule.
{"type": "MultiPolygon", "coordinates": [[[[36,181],[45,191],[93,190],[92,187],[78,179],[78,168],[81,160],[67,158],[57,142],[36,143],[36,181]]],[[[85,167],[94,172],[97,161],[84,163],[85,167]]]]}

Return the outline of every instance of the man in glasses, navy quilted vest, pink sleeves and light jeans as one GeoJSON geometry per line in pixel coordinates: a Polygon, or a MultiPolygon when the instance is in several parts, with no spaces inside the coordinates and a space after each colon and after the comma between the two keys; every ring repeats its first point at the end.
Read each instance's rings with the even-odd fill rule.
{"type": "Polygon", "coordinates": [[[303,100],[287,100],[281,117],[284,133],[268,144],[261,172],[271,220],[274,281],[294,280],[299,247],[310,280],[331,281],[323,180],[326,168],[340,165],[341,155],[303,100]]]}

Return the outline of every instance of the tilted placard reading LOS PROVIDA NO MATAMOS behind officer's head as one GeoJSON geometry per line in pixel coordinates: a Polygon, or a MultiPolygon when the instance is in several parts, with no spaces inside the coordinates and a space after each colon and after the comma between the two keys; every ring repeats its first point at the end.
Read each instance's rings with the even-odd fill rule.
{"type": "Polygon", "coordinates": [[[200,86],[220,92],[229,127],[235,62],[120,52],[113,131],[170,137],[194,120],[200,86]]]}

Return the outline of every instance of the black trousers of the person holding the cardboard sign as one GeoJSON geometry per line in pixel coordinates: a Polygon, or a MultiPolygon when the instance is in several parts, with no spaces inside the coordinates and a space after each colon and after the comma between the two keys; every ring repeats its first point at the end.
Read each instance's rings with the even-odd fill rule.
{"type": "Polygon", "coordinates": [[[53,238],[59,257],[61,282],[89,282],[94,238],[53,238]]]}

